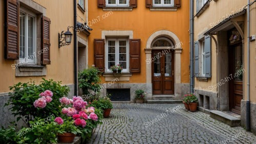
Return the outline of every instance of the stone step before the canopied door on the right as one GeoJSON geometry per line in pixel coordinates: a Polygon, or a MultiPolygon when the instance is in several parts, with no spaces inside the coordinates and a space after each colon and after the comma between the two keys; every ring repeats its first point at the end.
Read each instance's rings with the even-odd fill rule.
{"type": "Polygon", "coordinates": [[[210,110],[210,117],[221,121],[230,127],[240,126],[241,119],[218,110],[210,110]]]}

